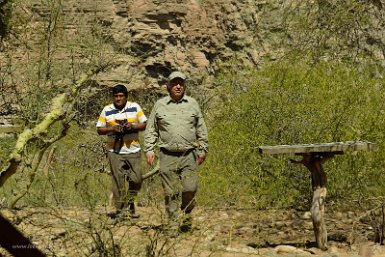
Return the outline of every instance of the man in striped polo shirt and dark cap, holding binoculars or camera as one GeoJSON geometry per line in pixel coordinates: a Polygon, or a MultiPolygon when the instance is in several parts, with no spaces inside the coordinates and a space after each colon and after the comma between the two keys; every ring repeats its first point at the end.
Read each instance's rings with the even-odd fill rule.
{"type": "Polygon", "coordinates": [[[134,203],[142,185],[138,132],[146,128],[147,118],[137,103],[127,100],[128,91],[124,85],[114,86],[112,96],[113,103],[103,108],[96,124],[98,134],[107,135],[116,209],[109,216],[138,218],[134,203]]]}

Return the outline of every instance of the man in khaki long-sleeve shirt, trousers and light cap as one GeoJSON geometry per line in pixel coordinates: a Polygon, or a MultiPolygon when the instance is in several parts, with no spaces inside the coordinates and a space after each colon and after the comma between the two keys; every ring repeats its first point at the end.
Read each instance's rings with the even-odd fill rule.
{"type": "Polygon", "coordinates": [[[208,151],[206,124],[197,101],[185,95],[185,81],[182,72],[170,74],[169,95],[155,103],[144,133],[144,151],[150,166],[154,163],[155,145],[160,148],[160,176],[171,236],[191,229],[189,214],[195,206],[197,166],[204,162],[208,151]],[[184,214],[181,226],[179,209],[184,214]]]}

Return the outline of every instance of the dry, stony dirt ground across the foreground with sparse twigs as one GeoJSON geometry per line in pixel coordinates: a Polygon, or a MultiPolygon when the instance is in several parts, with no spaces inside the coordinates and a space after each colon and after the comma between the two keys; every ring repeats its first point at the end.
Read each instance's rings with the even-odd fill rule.
{"type": "MultiPolygon", "coordinates": [[[[138,220],[122,221],[108,218],[104,207],[2,209],[1,214],[48,256],[385,257],[385,247],[374,243],[376,224],[353,211],[326,213],[328,250],[321,251],[308,212],[197,208],[193,230],[170,238],[162,208],[138,207],[138,220]]],[[[10,256],[4,249],[0,254],[10,256]]]]}

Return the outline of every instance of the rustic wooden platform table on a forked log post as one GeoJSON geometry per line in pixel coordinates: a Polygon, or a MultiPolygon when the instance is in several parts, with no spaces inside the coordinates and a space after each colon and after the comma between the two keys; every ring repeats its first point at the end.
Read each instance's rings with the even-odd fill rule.
{"type": "Polygon", "coordinates": [[[295,154],[302,156],[302,160],[291,161],[302,163],[311,173],[313,202],[310,212],[313,220],[313,230],[318,248],[327,250],[327,232],[324,222],[327,176],[322,164],[336,154],[376,150],[377,146],[367,141],[347,141],[325,144],[260,146],[258,149],[261,154],[295,154]]]}

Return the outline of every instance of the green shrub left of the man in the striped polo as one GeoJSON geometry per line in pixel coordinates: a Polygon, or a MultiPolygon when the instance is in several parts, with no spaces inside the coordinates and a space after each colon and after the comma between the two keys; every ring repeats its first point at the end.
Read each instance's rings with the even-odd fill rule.
{"type": "MultiPolygon", "coordinates": [[[[9,143],[10,144],[10,143],[9,143]]],[[[55,143],[55,153],[44,174],[47,154],[43,157],[28,193],[17,203],[18,207],[82,206],[93,209],[106,205],[110,194],[110,177],[105,172],[106,159],[102,137],[95,129],[80,128],[73,124],[68,136],[55,143]]],[[[27,164],[1,188],[7,203],[23,192],[31,171],[27,164]]]]}

